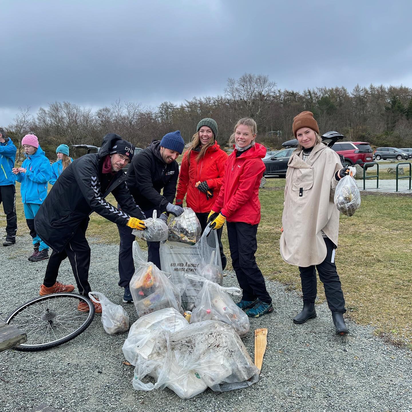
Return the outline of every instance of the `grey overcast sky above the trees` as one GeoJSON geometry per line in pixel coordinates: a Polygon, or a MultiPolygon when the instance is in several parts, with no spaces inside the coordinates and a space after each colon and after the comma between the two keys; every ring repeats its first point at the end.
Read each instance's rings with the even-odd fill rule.
{"type": "Polygon", "coordinates": [[[0,16],[0,126],[54,101],[215,96],[246,72],[299,91],[412,86],[410,0],[1,0],[0,16]]]}

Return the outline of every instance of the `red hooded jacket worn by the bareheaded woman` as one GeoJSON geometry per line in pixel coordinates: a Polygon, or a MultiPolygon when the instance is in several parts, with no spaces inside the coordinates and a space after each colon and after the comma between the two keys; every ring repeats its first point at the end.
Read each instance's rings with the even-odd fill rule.
{"type": "Polygon", "coordinates": [[[235,149],[227,159],[225,178],[212,210],[221,212],[228,222],[257,225],[260,222],[259,185],[265,171],[262,157],[266,155],[266,148],[255,143],[239,157],[236,152],[235,149]]]}

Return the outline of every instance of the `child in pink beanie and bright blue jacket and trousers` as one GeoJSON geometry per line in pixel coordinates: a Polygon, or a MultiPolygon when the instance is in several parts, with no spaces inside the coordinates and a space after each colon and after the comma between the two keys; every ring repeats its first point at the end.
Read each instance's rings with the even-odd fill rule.
{"type": "Polygon", "coordinates": [[[28,260],[37,262],[49,258],[49,246],[37,236],[34,217],[47,196],[47,182],[52,177],[52,167],[39,146],[37,136],[26,134],[21,140],[21,145],[26,152],[26,160],[21,167],[15,167],[13,173],[16,175],[16,180],[21,183],[20,191],[24,215],[30,229],[30,236],[33,238],[34,252],[28,260]]]}

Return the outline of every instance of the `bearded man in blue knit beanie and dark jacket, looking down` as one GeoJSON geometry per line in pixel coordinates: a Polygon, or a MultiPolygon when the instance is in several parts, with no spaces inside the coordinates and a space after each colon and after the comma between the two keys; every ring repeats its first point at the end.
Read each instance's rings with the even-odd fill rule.
{"type": "MultiPolygon", "coordinates": [[[[126,183],[136,204],[151,218],[153,211],[167,221],[169,213],[178,216],[183,208],[173,204],[179,176],[177,157],[183,152],[185,142],[180,131],[173,131],[163,136],[162,140],[153,140],[149,147],[133,157],[127,170],[126,183]],[[162,191],[163,190],[163,191],[162,191]],[[162,194],[160,193],[162,191],[162,194]]],[[[129,283],[135,269],[132,257],[132,245],[135,236],[129,227],[118,225],[120,234],[119,248],[119,286],[124,288],[123,302],[133,302],[129,283]]],[[[147,242],[149,262],[159,269],[159,242],[147,242]]]]}

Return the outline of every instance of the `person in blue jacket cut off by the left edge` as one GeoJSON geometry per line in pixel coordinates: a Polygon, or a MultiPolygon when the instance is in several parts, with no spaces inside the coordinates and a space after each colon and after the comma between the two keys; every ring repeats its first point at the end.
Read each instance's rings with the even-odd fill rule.
{"type": "Polygon", "coordinates": [[[12,170],[16,159],[16,146],[12,139],[6,137],[5,130],[0,127],[0,203],[6,215],[6,240],[3,246],[16,243],[16,181],[12,170]]]}

